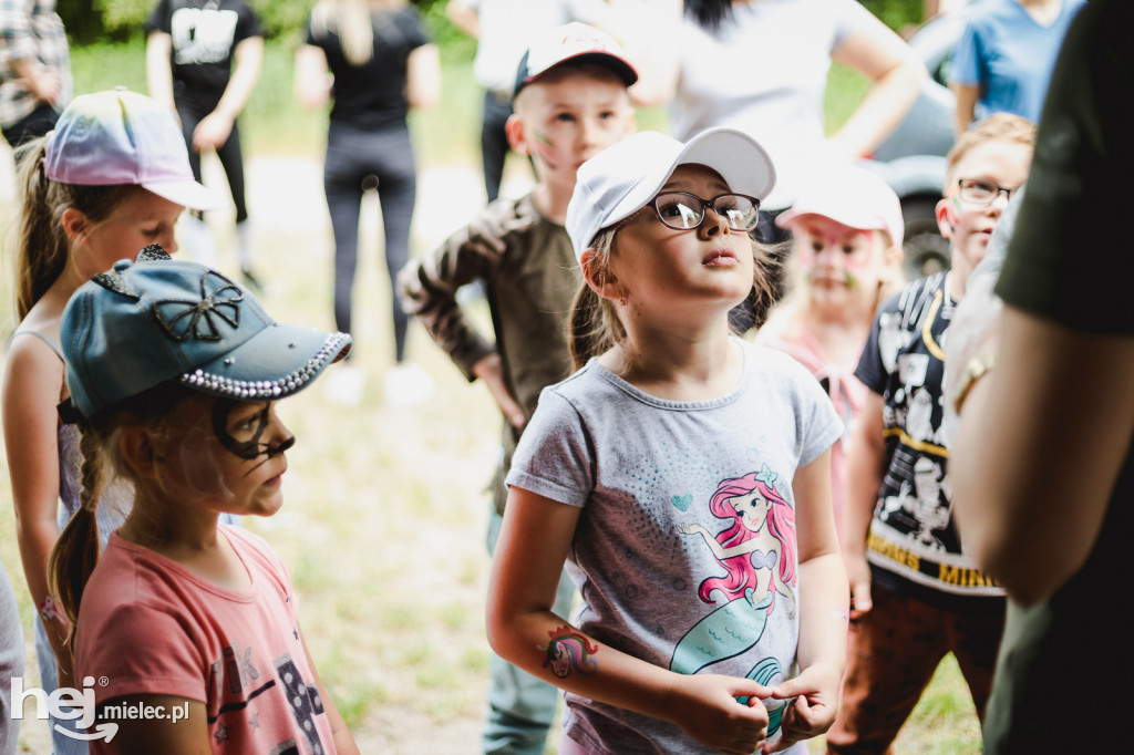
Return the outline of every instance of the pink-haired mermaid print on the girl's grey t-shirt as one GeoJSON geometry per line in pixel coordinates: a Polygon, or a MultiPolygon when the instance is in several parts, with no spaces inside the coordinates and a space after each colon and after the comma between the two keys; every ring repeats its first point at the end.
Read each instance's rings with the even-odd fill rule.
{"type": "MultiPolygon", "coordinates": [[[[701,583],[699,597],[718,608],[677,643],[671,670],[696,673],[739,655],[760,642],[773,610],[795,616],[795,509],[776,491],[778,476],[761,465],[760,472],[722,480],[709,510],[729,524],[716,535],[700,524],[679,527],[686,535],[701,535],[727,574],[701,583]]],[[[775,658],[767,658],[747,676],[768,685],[781,671],[775,658]]],[[[769,710],[769,735],[781,712],[769,710]]]]}

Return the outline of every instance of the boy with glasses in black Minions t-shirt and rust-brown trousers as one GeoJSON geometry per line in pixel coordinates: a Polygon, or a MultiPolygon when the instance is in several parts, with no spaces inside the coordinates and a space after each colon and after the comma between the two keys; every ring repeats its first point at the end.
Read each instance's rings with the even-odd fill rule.
{"type": "Polygon", "coordinates": [[[855,371],[870,390],[847,465],[850,639],[829,753],[886,752],[949,652],[983,719],[1005,599],[965,554],[953,521],[941,347],[1008,196],[1027,179],[1034,144],[1035,126],[1007,113],[957,139],[937,205],[953,269],[881,305],[855,371]],[[926,469],[940,473],[925,480],[926,469]],[[936,501],[919,494],[930,489],[936,501]]]}

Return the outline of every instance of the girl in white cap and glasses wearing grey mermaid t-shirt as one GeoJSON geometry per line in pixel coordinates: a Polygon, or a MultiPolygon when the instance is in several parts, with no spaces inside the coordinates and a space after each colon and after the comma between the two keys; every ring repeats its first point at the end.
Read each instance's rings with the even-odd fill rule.
{"type": "Polygon", "coordinates": [[[840,424],[728,323],[770,288],[748,232],[773,183],[731,129],[637,134],[579,168],[579,368],[516,451],[486,612],[501,656],[566,690],[560,753],[805,753],[835,719],[840,424]],[[565,560],[574,623],[548,608],[565,560]]]}

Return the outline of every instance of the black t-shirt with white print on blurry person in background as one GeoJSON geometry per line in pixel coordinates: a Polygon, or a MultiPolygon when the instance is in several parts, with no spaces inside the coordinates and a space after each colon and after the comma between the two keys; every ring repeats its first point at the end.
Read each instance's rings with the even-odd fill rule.
{"type": "Polygon", "coordinates": [[[172,37],[174,99],[206,112],[225,94],[236,45],[263,35],[244,0],[159,0],[145,31],[172,37]]]}

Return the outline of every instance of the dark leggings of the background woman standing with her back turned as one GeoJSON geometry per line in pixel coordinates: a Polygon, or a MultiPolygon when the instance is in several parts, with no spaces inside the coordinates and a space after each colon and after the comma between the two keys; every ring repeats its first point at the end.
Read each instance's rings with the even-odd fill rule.
{"type": "Polygon", "coordinates": [[[374,133],[332,122],[327,134],[323,190],[335,231],[335,326],[345,333],[350,332],[362,195],[375,179],[386,232],[386,268],[390,274],[393,348],[397,360],[401,362],[409,317],[398,304],[395,280],[409,260],[409,223],[417,192],[409,129],[403,125],[374,133]]]}

